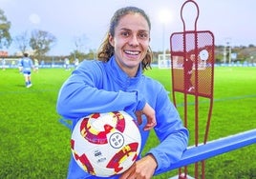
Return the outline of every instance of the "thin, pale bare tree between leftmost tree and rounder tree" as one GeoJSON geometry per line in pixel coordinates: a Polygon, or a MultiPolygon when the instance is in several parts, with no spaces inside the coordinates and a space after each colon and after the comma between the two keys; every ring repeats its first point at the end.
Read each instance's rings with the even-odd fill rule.
{"type": "Polygon", "coordinates": [[[18,50],[24,53],[30,46],[30,37],[28,31],[24,31],[21,34],[14,37],[13,42],[18,50]]]}

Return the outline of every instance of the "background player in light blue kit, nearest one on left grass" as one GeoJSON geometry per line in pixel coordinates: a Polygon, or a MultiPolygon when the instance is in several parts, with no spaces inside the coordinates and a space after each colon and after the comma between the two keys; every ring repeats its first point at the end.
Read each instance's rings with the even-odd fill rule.
{"type": "Polygon", "coordinates": [[[32,73],[32,69],[33,69],[33,63],[32,63],[32,59],[29,57],[28,53],[24,53],[24,57],[21,58],[19,66],[24,75],[25,87],[31,88],[32,87],[31,73],[32,73]]]}

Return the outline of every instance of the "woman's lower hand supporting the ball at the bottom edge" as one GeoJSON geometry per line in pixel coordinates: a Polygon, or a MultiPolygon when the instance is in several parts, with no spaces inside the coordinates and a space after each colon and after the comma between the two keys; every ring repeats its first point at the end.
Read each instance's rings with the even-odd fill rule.
{"type": "Polygon", "coordinates": [[[134,165],[124,171],[120,179],[150,179],[152,178],[158,163],[152,154],[148,154],[136,161],[134,165]]]}

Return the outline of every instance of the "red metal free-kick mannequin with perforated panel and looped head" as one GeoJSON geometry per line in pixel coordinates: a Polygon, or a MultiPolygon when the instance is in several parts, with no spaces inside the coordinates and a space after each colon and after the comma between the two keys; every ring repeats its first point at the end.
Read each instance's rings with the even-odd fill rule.
{"type": "MultiPolygon", "coordinates": [[[[177,106],[176,93],[183,94],[184,126],[194,135],[194,145],[206,144],[210,127],[210,118],[213,107],[213,80],[214,80],[214,36],[209,30],[197,30],[199,7],[195,1],[187,0],[181,7],[181,21],[183,31],[174,32],[170,37],[171,67],[172,67],[172,94],[177,106]],[[186,30],[183,19],[183,9],[186,5],[196,7],[197,15],[194,30],[186,30]],[[200,115],[201,98],[209,99],[209,109],[206,120],[200,115]],[[188,104],[195,104],[194,117],[191,117],[188,104]],[[189,111],[189,112],[188,112],[189,111]],[[193,121],[192,121],[193,120],[193,121]],[[203,124],[206,123],[206,124],[203,124]],[[203,136],[201,125],[205,125],[203,136]]],[[[204,161],[195,163],[195,178],[204,178],[204,161]],[[201,164],[201,166],[200,166],[201,164]],[[201,171],[200,171],[201,169],[201,171]]],[[[187,167],[179,169],[179,178],[188,177],[187,167]]]]}

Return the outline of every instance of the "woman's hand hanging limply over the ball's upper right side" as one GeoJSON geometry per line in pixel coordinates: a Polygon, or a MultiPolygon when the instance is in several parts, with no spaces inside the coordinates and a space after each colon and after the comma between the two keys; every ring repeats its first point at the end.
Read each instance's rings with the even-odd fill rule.
{"type": "Polygon", "coordinates": [[[146,103],[145,107],[142,110],[137,110],[135,112],[139,125],[142,123],[142,114],[146,115],[147,117],[147,124],[144,130],[153,129],[157,125],[157,120],[155,116],[155,109],[149,106],[146,103]]]}

